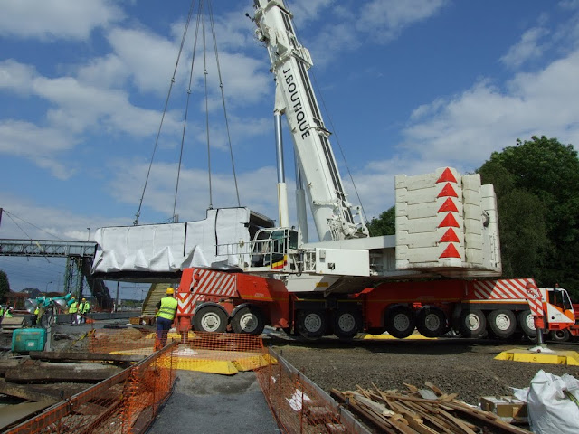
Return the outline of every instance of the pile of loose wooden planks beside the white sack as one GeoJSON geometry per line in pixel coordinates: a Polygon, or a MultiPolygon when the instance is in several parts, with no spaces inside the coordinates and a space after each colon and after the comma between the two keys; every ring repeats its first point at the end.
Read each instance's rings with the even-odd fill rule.
{"type": "Polygon", "coordinates": [[[510,425],[493,413],[456,400],[457,393],[444,393],[430,382],[426,389],[405,384],[408,391],[381,391],[357,386],[356,391],[330,394],[347,410],[378,432],[394,434],[509,433],[528,434],[527,429],[510,425]]]}

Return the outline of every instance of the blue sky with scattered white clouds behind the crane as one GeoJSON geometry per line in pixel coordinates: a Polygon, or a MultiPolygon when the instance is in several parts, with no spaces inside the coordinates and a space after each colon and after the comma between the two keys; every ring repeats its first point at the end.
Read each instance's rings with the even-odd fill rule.
{"type": "MultiPolygon", "coordinates": [[[[189,5],[0,0],[0,238],[86,240],[87,228],[92,236],[133,222],[189,5]]],[[[394,204],[394,175],[446,165],[471,172],[491,152],[533,135],[579,143],[577,0],[288,5],[315,63],[318,102],[351,202],[358,203],[346,165],[368,217],[394,204]]],[[[212,9],[241,203],[277,218],[273,80],[245,17],[252,1],[213,0],[212,9]]],[[[166,222],[173,212],[194,35],[195,17],[143,223],[166,222]]],[[[202,53],[198,43],[176,203],[181,221],[203,218],[209,205],[202,53]]],[[[213,48],[206,59],[213,206],[234,206],[213,48]]],[[[291,187],[289,137],[285,143],[291,187]]],[[[63,280],[55,259],[0,256],[0,269],[14,290],[54,289],[63,280]]],[[[121,297],[140,297],[126,286],[121,297]]]]}

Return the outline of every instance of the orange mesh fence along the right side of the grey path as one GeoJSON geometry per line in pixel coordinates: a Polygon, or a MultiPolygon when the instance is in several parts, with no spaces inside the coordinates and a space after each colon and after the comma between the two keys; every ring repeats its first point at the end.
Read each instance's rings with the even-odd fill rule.
{"type": "Polygon", "coordinates": [[[354,416],[273,350],[275,365],[257,370],[261,392],[280,429],[297,433],[369,434],[354,416]]]}

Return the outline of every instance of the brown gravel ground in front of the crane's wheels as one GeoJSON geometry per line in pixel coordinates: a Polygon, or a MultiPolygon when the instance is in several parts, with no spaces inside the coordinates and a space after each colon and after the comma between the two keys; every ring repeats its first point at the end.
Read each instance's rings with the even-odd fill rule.
{"type": "MultiPolygon", "coordinates": [[[[528,341],[387,339],[347,344],[335,339],[299,343],[270,338],[268,344],[326,392],[356,390],[356,385],[367,389],[373,383],[382,390],[405,390],[404,382],[417,387],[432,382],[476,405],[483,396],[512,395],[510,387],[528,387],[540,369],[579,378],[579,366],[494,360],[501,351],[533,346],[528,341]]],[[[579,351],[576,343],[548,347],[579,351]]]]}

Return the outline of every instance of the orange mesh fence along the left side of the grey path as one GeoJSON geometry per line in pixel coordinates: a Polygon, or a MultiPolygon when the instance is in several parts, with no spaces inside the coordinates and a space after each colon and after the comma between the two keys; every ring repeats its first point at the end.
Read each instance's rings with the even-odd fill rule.
{"type": "Polygon", "coordinates": [[[142,432],[175,383],[176,344],[8,430],[14,434],[142,432]]]}

